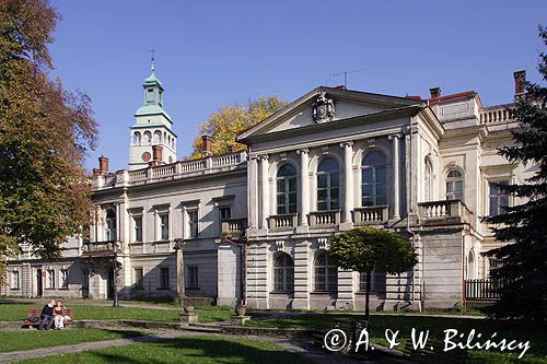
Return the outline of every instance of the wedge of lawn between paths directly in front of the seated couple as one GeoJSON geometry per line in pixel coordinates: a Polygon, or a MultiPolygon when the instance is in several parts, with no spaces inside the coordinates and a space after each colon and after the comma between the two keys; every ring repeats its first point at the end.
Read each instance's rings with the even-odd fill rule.
{"type": "Polygon", "coordinates": [[[80,342],[116,340],[141,336],[139,331],[70,329],[48,331],[0,331],[0,352],[32,350],[51,345],[68,345],[80,342]]]}

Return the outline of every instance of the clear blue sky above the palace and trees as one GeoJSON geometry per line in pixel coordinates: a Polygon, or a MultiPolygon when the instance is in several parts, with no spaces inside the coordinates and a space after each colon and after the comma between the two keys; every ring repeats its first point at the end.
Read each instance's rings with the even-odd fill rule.
{"type": "Polygon", "coordinates": [[[165,109],[189,154],[219,107],[259,96],[292,101],[317,85],[428,96],[475,90],[486,105],[513,95],[515,70],[539,79],[537,25],[547,1],[60,1],[51,45],[69,90],[93,101],[96,157],[126,168],[129,126],[156,49],[165,109]]]}

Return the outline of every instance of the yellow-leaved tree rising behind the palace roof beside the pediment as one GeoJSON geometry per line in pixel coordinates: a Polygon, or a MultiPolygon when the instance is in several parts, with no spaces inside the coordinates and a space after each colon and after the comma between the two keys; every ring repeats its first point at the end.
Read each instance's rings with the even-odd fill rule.
{"type": "Polygon", "coordinates": [[[279,99],[277,96],[260,97],[248,104],[234,104],[221,107],[211,115],[209,120],[199,127],[200,134],[194,140],[194,151],[190,158],[199,158],[201,153],[201,136],[212,137],[212,154],[224,154],[230,145],[243,150],[245,144],[236,143],[235,137],[242,131],[251,128],[255,124],[266,119],[276,113],[288,102],[279,99]]]}

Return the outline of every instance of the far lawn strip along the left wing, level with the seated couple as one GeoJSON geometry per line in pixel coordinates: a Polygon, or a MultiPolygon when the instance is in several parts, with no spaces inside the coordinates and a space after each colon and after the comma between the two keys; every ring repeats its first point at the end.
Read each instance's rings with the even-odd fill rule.
{"type": "MultiPolygon", "coordinates": [[[[26,317],[28,308],[42,307],[35,304],[0,304],[0,321],[19,321],[26,317]]],[[[74,308],[74,319],[133,319],[142,321],[178,322],[182,308],[173,309],[153,309],[137,307],[112,307],[112,306],[91,306],[91,305],[67,305],[74,308]]],[[[230,319],[232,309],[226,307],[208,307],[203,309],[196,308],[199,315],[199,321],[214,322],[230,319]]]]}

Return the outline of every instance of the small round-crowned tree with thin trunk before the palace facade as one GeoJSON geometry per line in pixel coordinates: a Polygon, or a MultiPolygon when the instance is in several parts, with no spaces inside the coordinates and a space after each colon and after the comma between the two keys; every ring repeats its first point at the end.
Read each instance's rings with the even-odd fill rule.
{"type": "Polygon", "coordinates": [[[341,269],[366,274],[364,307],[368,322],[372,271],[397,274],[418,263],[418,257],[407,239],[397,233],[372,227],[356,227],[336,235],[328,254],[341,269]]]}

